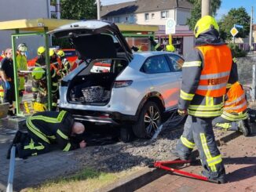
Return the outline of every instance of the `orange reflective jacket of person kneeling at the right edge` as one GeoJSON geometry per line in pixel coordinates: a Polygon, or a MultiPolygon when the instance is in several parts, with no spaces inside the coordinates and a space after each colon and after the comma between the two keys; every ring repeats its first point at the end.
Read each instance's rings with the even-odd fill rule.
{"type": "Polygon", "coordinates": [[[227,92],[222,118],[229,121],[239,121],[247,118],[247,101],[242,85],[239,82],[232,84],[227,92]]]}

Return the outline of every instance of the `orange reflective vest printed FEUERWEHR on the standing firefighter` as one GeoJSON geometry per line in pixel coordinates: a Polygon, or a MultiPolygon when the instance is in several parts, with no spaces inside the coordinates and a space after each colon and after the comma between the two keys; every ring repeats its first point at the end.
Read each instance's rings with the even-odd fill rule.
{"type": "Polygon", "coordinates": [[[218,97],[225,95],[232,66],[232,54],[227,45],[197,46],[203,56],[203,70],[196,94],[218,97]]]}

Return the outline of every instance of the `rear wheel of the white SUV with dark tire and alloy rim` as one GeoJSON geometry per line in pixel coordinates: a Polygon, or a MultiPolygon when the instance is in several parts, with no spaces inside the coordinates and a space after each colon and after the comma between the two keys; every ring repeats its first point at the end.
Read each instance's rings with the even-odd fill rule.
{"type": "Polygon", "coordinates": [[[141,109],[139,119],[133,125],[135,136],[141,139],[150,139],[162,123],[162,110],[158,103],[149,101],[141,109]]]}

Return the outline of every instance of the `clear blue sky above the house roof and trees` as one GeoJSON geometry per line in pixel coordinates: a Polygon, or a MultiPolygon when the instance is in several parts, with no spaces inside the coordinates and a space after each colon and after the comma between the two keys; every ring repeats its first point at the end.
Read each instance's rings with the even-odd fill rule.
{"type": "MultiPolygon", "coordinates": [[[[102,5],[111,5],[120,2],[131,2],[131,0],[101,0],[102,5]]],[[[222,0],[221,8],[218,9],[216,19],[220,19],[223,14],[229,13],[232,8],[243,6],[251,16],[251,6],[254,6],[254,24],[256,23],[256,0],[222,0]]]]}

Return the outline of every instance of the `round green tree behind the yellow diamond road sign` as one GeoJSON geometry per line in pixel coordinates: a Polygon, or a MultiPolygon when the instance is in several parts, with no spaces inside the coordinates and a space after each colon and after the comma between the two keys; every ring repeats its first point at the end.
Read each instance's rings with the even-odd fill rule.
{"type": "Polygon", "coordinates": [[[236,38],[246,38],[250,33],[250,20],[251,16],[248,15],[245,8],[230,9],[229,13],[222,16],[219,22],[221,38],[224,40],[232,39],[230,30],[234,27],[234,24],[243,25],[243,29],[236,28],[239,31],[236,38]]]}

